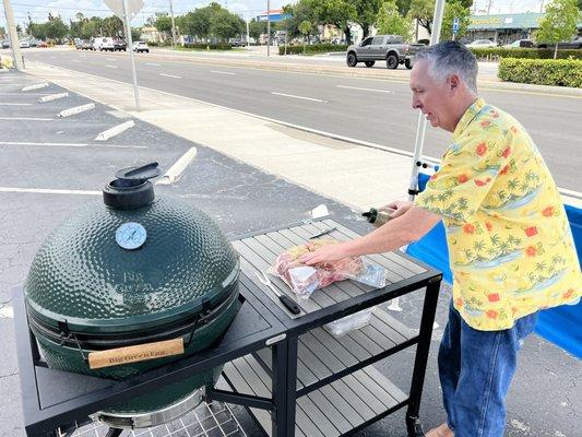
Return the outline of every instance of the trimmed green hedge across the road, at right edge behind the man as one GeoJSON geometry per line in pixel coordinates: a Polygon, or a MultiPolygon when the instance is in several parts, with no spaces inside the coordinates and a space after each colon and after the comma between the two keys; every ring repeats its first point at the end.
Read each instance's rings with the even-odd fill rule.
{"type": "Polygon", "coordinates": [[[502,58],[497,75],[508,82],[582,88],[582,60],[502,58]]]}

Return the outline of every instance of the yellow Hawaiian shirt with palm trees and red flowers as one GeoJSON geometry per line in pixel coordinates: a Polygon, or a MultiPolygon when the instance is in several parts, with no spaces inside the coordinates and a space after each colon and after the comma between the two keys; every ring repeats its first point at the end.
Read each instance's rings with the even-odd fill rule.
{"type": "Polygon", "coordinates": [[[582,276],[558,189],[510,115],[477,99],[415,203],[443,216],[454,307],[473,328],[580,300],[582,276]]]}

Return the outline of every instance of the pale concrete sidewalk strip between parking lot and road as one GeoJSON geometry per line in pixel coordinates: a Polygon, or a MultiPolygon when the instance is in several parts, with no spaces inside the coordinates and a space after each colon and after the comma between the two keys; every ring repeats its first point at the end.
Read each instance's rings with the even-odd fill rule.
{"type": "MultiPolygon", "coordinates": [[[[28,63],[26,71],[355,210],[407,198],[407,153],[366,147],[143,87],[142,110],[135,111],[130,84],[39,62],[28,63]]],[[[582,205],[573,198],[565,202],[582,205]]]]}

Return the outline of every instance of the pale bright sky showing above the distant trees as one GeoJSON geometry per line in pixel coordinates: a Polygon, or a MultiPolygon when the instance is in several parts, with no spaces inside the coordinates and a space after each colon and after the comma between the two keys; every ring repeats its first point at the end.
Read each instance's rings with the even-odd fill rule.
{"type": "MultiPolygon", "coordinates": [[[[76,12],[84,15],[107,16],[109,10],[103,0],[10,0],[14,10],[16,23],[27,22],[27,15],[34,22],[47,21],[48,13],[60,15],[66,22],[73,19],[76,12]]],[[[266,10],[266,0],[215,0],[229,11],[241,14],[245,19],[250,19],[266,10]]],[[[545,0],[547,3],[549,0],[545,0]]],[[[132,22],[132,25],[141,25],[155,12],[168,12],[169,0],[143,0],[145,3],[142,11],[132,22]]],[[[288,4],[293,0],[271,0],[271,9],[280,9],[283,4],[288,4]]],[[[207,0],[173,0],[174,13],[179,15],[195,8],[205,7],[207,0]]],[[[476,0],[477,13],[485,14],[489,8],[490,14],[497,13],[520,13],[539,12],[542,0],[476,0]]],[[[473,9],[472,9],[473,11],[473,9]]],[[[4,26],[5,17],[3,8],[0,9],[0,26],[4,26]]]]}

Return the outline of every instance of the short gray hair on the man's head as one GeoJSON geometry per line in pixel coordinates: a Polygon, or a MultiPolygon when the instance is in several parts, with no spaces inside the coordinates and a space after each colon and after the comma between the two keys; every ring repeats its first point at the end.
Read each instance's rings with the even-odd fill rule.
{"type": "Polygon", "coordinates": [[[458,74],[466,85],[477,93],[478,66],[475,55],[459,42],[443,42],[416,54],[415,60],[430,62],[428,73],[435,80],[444,80],[458,74]]]}

